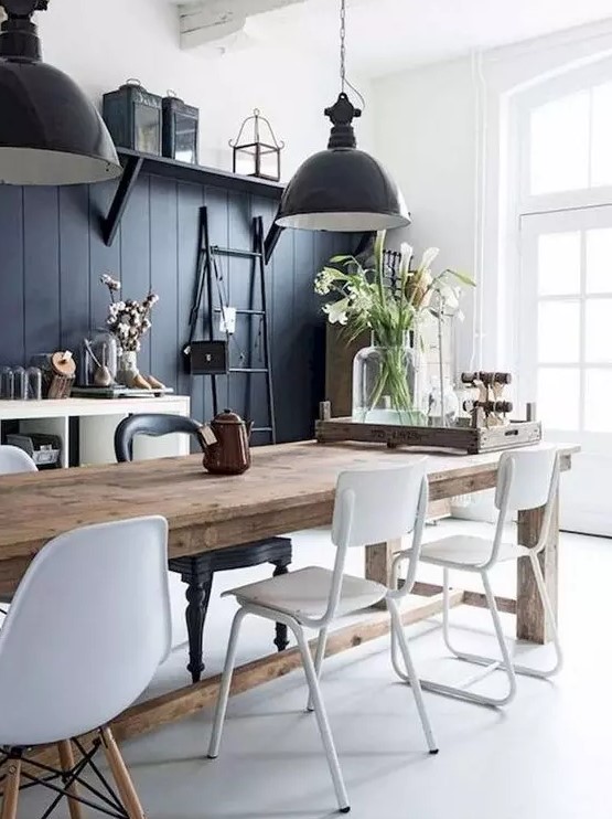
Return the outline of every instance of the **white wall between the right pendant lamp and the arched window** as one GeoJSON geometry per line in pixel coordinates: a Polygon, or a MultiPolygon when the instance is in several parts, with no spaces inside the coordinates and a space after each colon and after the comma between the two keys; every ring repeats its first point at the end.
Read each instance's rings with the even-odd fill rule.
{"type": "Polygon", "coordinates": [[[534,83],[611,52],[608,20],[374,82],[375,151],[412,211],[410,241],[439,246],[442,264],[482,275],[458,327],[458,371],[514,364],[503,344],[515,273],[504,269],[508,106],[534,83]]]}

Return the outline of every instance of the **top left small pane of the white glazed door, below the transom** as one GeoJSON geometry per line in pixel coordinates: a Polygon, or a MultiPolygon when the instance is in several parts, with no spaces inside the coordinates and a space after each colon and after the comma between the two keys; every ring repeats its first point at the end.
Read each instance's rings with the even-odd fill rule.
{"type": "Polygon", "coordinates": [[[538,240],[540,296],[580,292],[580,232],[544,233],[538,240]]]}

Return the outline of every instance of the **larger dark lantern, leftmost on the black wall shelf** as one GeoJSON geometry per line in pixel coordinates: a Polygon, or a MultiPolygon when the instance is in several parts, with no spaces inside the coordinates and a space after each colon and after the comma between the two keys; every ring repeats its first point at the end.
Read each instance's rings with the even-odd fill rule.
{"type": "Polygon", "coordinates": [[[116,145],[161,156],[161,97],[149,94],[138,79],[104,95],[103,116],[116,145]]]}

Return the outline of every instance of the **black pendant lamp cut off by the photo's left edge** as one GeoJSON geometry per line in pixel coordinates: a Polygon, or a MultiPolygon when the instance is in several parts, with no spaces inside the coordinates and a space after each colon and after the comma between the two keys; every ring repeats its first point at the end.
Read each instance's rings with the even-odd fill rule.
{"type": "Polygon", "coordinates": [[[0,0],[0,183],[63,185],[121,173],[110,135],[78,85],[41,60],[32,22],[49,0],[0,0]]]}

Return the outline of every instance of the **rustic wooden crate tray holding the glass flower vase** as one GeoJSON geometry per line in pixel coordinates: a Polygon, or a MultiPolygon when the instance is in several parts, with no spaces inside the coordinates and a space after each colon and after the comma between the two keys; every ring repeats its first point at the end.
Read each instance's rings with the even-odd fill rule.
{"type": "Polygon", "coordinates": [[[320,444],[355,440],[362,444],[386,444],[421,449],[455,449],[476,455],[500,449],[530,446],[541,440],[539,421],[511,421],[508,426],[473,428],[471,426],[432,427],[394,424],[362,424],[352,418],[318,421],[315,437],[320,444]]]}

